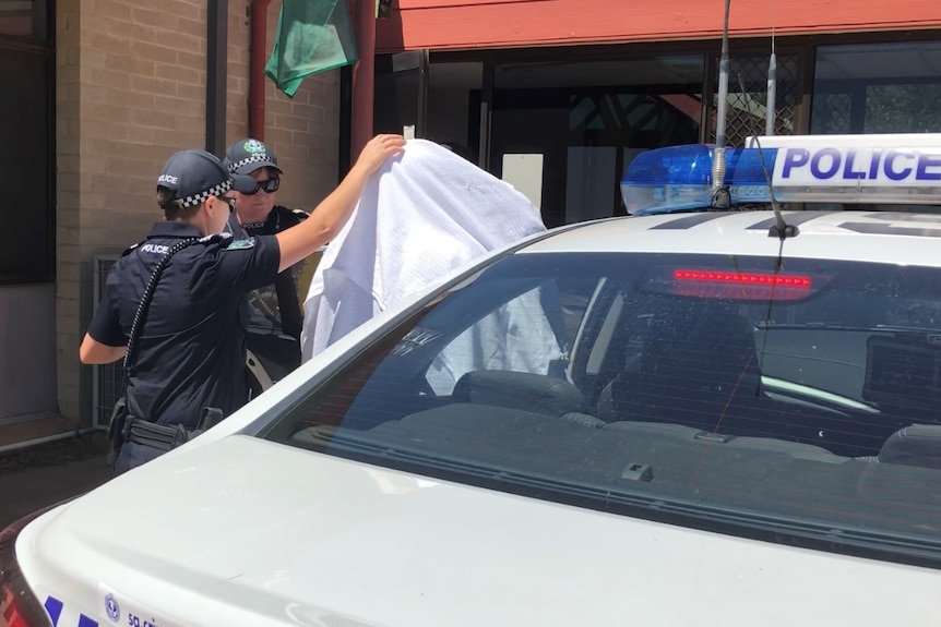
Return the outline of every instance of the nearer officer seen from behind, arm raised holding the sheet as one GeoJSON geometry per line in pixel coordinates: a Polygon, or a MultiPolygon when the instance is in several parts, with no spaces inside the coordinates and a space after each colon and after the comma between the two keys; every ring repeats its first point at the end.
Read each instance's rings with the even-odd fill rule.
{"type": "Polygon", "coordinates": [[[214,233],[229,218],[227,194],[251,191],[255,181],[230,176],[203,150],[181,150],[167,160],[157,179],[165,220],[111,268],[79,350],[82,363],[111,363],[124,357],[132,327],[139,327],[126,363],[118,472],[169,450],[206,426],[206,417],[228,415],[246,401],[246,294],[330,241],[356,207],[367,179],[404,144],[400,135],[373,137],[307,220],[245,240],[214,233]],[[160,263],[163,272],[155,274],[160,263]],[[150,305],[139,311],[154,277],[159,278],[146,290],[150,305]]]}

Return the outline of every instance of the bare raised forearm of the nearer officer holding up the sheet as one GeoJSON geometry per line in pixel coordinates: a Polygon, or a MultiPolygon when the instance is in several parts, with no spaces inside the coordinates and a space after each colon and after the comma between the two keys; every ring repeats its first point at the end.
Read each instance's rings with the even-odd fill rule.
{"type": "Polygon", "coordinates": [[[353,215],[369,177],[385,159],[400,154],[404,146],[405,140],[402,135],[377,135],[370,140],[349,173],[333,193],[310,213],[310,217],[275,236],[281,250],[277,272],[284,272],[334,239],[353,215]]]}

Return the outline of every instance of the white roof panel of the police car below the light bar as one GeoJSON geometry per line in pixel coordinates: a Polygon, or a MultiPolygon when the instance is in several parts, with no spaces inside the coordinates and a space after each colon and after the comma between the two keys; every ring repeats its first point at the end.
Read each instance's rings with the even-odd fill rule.
{"type": "MultiPolygon", "coordinates": [[[[784,212],[800,236],[784,255],[941,266],[941,215],[895,212],[784,212]]],[[[611,218],[562,228],[520,251],[647,252],[774,256],[781,240],[769,237],[771,210],[699,212],[611,218]]]]}

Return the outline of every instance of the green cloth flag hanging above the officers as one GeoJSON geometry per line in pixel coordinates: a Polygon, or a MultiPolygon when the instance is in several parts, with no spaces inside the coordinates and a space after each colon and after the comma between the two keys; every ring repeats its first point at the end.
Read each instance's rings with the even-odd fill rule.
{"type": "Polygon", "coordinates": [[[294,97],[305,77],[355,62],[347,0],[284,0],[264,68],[278,89],[294,97]]]}

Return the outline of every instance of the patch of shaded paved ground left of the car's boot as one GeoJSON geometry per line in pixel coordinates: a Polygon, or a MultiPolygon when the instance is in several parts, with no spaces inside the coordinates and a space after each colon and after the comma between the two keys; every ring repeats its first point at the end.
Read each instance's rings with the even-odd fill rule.
{"type": "Polygon", "coordinates": [[[106,482],[103,433],[0,455],[0,528],[106,482]]]}

